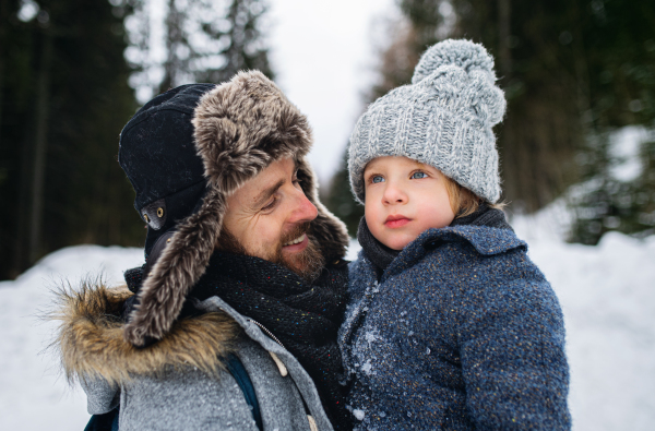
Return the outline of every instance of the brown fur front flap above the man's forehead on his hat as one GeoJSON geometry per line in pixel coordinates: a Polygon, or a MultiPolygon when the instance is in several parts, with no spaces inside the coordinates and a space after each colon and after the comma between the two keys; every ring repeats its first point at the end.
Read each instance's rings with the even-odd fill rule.
{"type": "Polygon", "coordinates": [[[225,195],[272,161],[302,158],[311,147],[307,119],[261,72],[240,72],[206,93],[193,127],[205,177],[225,195]]]}

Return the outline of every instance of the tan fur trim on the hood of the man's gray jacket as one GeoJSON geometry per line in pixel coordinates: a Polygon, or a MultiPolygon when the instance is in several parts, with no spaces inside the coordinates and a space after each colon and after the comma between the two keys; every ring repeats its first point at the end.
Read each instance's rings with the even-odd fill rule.
{"type": "Polygon", "coordinates": [[[176,322],[159,343],[139,349],[123,339],[123,324],[116,315],[133,294],[127,287],[82,286],[79,291],[57,292],[60,321],[57,339],[69,382],[103,378],[110,384],[131,375],[152,374],[165,367],[196,367],[207,374],[223,369],[221,358],[231,351],[238,324],[227,314],[206,313],[176,322]]]}

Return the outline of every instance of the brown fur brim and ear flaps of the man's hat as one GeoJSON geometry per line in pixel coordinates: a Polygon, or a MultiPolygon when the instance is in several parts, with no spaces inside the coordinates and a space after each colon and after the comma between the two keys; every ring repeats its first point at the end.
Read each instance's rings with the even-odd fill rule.
{"type": "Polygon", "coordinates": [[[139,291],[140,306],[124,327],[134,346],[163,339],[200,279],[221,236],[226,199],[271,163],[294,158],[298,179],[319,211],[310,225],[327,261],[345,255],[345,225],[318,200],[306,155],[312,143],[306,117],[261,72],[240,72],[204,93],[193,112],[194,143],[207,188],[201,205],[175,226],[175,234],[139,291]]]}

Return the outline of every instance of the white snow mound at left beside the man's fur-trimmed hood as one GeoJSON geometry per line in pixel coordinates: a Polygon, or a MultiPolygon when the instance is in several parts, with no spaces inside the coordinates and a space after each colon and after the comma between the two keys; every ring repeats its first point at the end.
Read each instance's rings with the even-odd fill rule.
{"type": "Polygon", "coordinates": [[[84,278],[118,284],[143,264],[142,249],[80,246],[53,252],[15,282],[0,283],[0,430],[83,430],[90,416],[82,390],[71,388],[58,359],[44,352],[56,324],[38,318],[49,289],[84,278]]]}

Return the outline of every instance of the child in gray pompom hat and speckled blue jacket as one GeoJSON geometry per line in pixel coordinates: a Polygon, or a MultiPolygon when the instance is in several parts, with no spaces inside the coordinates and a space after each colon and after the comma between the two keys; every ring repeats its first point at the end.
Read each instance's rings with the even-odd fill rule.
{"type": "Polygon", "coordinates": [[[365,203],[340,345],[360,430],[568,430],[562,312],[493,203],[504,95],[445,40],[370,105],[349,149],[365,203]]]}

